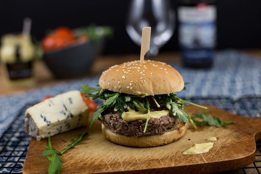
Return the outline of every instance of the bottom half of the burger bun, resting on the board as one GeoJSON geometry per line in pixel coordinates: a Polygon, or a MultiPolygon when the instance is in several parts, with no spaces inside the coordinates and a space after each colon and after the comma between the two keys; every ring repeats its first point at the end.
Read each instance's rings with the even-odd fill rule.
{"type": "Polygon", "coordinates": [[[143,137],[128,137],[110,131],[102,124],[102,133],[110,141],[131,147],[154,147],[161,146],[176,141],[184,136],[188,124],[181,122],[176,128],[166,131],[164,134],[143,136],[143,137]]]}

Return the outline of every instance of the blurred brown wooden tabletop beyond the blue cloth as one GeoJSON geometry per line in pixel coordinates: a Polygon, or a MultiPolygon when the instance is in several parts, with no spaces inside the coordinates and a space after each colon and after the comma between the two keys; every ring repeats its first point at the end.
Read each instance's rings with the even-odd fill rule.
{"type": "MultiPolygon", "coordinates": [[[[261,57],[261,50],[242,50],[243,52],[247,52],[249,54],[257,55],[261,57]]],[[[128,54],[128,55],[106,55],[99,56],[95,60],[93,64],[93,68],[91,73],[86,75],[86,77],[91,77],[97,74],[100,74],[103,70],[107,69],[109,66],[113,66],[115,64],[120,64],[125,61],[133,61],[139,59],[138,54],[128,54]]],[[[145,58],[147,59],[147,58],[145,58]]],[[[160,53],[154,60],[170,62],[176,61],[179,62],[181,59],[180,53],[178,52],[168,52],[168,53],[160,53]]],[[[6,80],[3,77],[3,71],[0,66],[0,95],[12,95],[15,93],[22,93],[28,90],[34,90],[37,88],[41,88],[44,86],[55,85],[64,81],[72,81],[76,79],[55,79],[50,70],[46,67],[43,61],[36,62],[36,78],[37,85],[32,88],[10,88],[6,84],[6,80]]]]}

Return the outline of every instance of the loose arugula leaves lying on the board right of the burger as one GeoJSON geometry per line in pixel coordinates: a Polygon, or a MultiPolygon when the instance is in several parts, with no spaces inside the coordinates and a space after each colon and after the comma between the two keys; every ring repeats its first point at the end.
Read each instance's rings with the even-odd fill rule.
{"type": "Polygon", "coordinates": [[[229,124],[235,124],[234,121],[223,121],[218,117],[211,117],[210,114],[206,115],[206,112],[202,112],[202,113],[198,113],[198,114],[193,114],[193,122],[197,125],[197,126],[216,126],[216,127],[225,127],[229,124]],[[200,119],[200,120],[199,120],[200,119]]]}

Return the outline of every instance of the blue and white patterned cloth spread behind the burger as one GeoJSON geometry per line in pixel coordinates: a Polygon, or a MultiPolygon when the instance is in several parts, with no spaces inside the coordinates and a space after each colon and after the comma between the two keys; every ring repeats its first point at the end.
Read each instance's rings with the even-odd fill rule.
{"type": "MultiPolygon", "coordinates": [[[[168,62],[169,63],[169,62],[168,62]]],[[[171,63],[170,63],[171,64],[171,63]]],[[[236,50],[225,50],[215,55],[214,66],[210,69],[184,68],[171,64],[190,82],[179,97],[225,96],[233,99],[242,96],[261,96],[261,59],[236,50]]],[[[98,84],[99,75],[70,83],[45,87],[28,93],[0,97],[0,137],[8,128],[19,110],[30,102],[38,102],[46,95],[57,95],[69,90],[80,90],[81,84],[98,84]]]]}

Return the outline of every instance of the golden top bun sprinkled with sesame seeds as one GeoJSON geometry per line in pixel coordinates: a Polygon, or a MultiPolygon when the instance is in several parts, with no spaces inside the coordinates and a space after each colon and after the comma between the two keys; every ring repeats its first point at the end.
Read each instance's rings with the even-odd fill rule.
{"type": "Polygon", "coordinates": [[[99,85],[103,89],[132,95],[159,95],[179,92],[184,88],[180,73],[160,62],[139,60],[111,66],[102,72],[99,85]]]}

